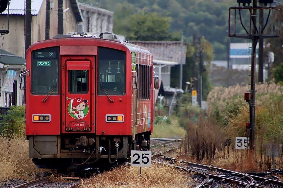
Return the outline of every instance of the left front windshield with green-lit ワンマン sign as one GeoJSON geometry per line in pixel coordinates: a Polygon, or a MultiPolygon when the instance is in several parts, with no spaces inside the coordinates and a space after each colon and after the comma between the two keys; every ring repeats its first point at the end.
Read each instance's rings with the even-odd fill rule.
{"type": "Polygon", "coordinates": [[[31,53],[31,93],[59,93],[59,47],[35,50],[31,53]]]}

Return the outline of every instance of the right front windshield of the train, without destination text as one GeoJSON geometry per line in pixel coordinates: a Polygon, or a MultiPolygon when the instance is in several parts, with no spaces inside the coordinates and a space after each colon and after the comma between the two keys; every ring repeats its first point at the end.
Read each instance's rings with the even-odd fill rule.
{"type": "Polygon", "coordinates": [[[98,48],[98,95],[124,95],[126,53],[98,48]]]}

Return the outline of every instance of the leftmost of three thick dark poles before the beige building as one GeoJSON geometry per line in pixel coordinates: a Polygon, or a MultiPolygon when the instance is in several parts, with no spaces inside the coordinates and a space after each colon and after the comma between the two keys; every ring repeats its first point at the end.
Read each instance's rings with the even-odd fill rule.
{"type": "Polygon", "coordinates": [[[27,58],[27,49],[31,45],[31,0],[25,1],[25,53],[27,58]]]}

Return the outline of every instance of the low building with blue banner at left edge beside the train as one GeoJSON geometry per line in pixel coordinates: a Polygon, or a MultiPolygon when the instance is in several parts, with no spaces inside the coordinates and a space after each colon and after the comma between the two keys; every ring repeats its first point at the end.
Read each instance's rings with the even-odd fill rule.
{"type": "Polygon", "coordinates": [[[23,90],[19,89],[19,75],[25,69],[25,59],[2,49],[0,58],[0,106],[22,105],[23,90]]]}

